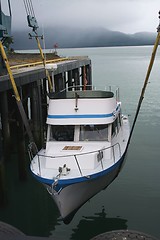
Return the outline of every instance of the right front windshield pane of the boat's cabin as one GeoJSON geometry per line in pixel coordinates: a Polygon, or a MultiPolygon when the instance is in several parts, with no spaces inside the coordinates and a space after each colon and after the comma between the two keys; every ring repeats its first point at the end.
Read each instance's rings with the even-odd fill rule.
{"type": "Polygon", "coordinates": [[[108,141],[108,125],[80,126],[80,141],[108,141]]]}

